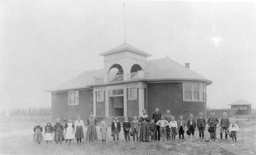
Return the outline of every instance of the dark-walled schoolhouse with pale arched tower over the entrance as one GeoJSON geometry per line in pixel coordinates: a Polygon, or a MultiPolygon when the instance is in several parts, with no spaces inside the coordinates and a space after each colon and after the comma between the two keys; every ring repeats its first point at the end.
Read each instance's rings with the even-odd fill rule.
{"type": "Polygon", "coordinates": [[[52,97],[52,119],[89,117],[99,119],[139,116],[142,109],[152,117],[155,107],[176,118],[189,114],[206,117],[206,86],[212,81],[166,57],[147,61],[151,54],[126,42],[99,54],[103,69],[87,71],[47,92],[52,97]]]}

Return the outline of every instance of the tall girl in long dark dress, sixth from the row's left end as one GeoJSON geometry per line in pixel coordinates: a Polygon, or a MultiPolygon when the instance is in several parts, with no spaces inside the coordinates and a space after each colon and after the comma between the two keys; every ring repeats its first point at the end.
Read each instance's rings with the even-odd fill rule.
{"type": "Polygon", "coordinates": [[[97,136],[97,119],[93,117],[93,113],[90,113],[90,118],[87,119],[87,137],[86,140],[90,142],[94,142],[98,140],[97,136]]]}

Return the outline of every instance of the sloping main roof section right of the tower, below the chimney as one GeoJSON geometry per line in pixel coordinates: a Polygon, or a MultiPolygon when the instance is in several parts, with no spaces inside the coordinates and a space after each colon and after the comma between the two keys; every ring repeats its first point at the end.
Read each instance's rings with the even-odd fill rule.
{"type": "Polygon", "coordinates": [[[212,83],[212,81],[168,57],[147,61],[147,66],[143,71],[146,73],[145,79],[148,80],[198,80],[205,81],[207,85],[212,83]]]}

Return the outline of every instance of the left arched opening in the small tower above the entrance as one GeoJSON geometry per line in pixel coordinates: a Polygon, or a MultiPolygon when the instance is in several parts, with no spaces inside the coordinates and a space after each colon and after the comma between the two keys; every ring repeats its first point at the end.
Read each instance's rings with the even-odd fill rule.
{"type": "Polygon", "coordinates": [[[113,64],[109,71],[109,82],[123,81],[123,68],[120,64],[113,64]]]}

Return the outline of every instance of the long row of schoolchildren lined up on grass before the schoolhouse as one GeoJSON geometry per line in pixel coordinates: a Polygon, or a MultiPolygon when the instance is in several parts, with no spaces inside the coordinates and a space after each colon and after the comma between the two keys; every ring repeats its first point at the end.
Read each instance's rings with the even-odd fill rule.
{"type": "MultiPolygon", "coordinates": [[[[167,115],[169,110],[167,110],[167,115]]],[[[200,140],[204,139],[204,130],[205,127],[208,125],[208,131],[210,132],[210,140],[216,140],[216,128],[217,124],[220,122],[220,138],[221,141],[223,140],[223,131],[225,130],[225,139],[228,136],[232,138],[235,142],[237,142],[237,131],[239,127],[237,124],[232,121],[230,123],[229,118],[227,117],[227,113],[223,113],[223,117],[219,121],[218,118],[215,116],[215,112],[211,112],[211,116],[207,119],[203,117],[203,113],[199,113],[199,118],[197,122],[194,119],[194,115],[190,114],[189,119],[187,121],[183,120],[183,116],[180,116],[178,121],[175,121],[175,117],[170,115],[170,119],[166,120],[166,116],[161,115],[161,120],[157,122],[154,119],[151,119],[151,122],[148,123],[148,129],[144,131],[140,131],[141,123],[137,120],[137,117],[134,117],[134,120],[130,123],[127,117],[124,117],[123,122],[123,133],[125,141],[130,141],[130,135],[133,137],[133,141],[135,141],[135,137],[139,138],[139,133],[144,132],[144,135],[149,135],[151,137],[151,141],[155,141],[157,139],[157,128],[159,127],[160,130],[160,142],[162,139],[166,140],[171,139],[172,142],[175,142],[176,135],[179,134],[179,142],[182,140],[184,142],[184,132],[185,128],[187,128],[186,134],[188,135],[188,139],[190,139],[190,135],[192,135],[192,139],[194,139],[195,130],[196,128],[199,130],[199,138],[200,140]],[[156,123],[155,123],[156,122],[156,123]],[[131,130],[131,131],[130,131],[131,130]],[[169,134],[166,134],[169,132],[169,134]]],[[[149,121],[149,120],[148,120],[149,121]]],[[[106,138],[108,137],[107,131],[108,128],[105,125],[105,122],[101,122],[102,126],[100,127],[100,137],[102,139],[102,143],[106,143],[106,138]]],[[[90,114],[90,118],[87,120],[87,141],[94,142],[98,140],[97,137],[97,119],[93,117],[93,114],[90,114]]],[[[113,140],[119,140],[119,132],[121,131],[121,124],[118,121],[118,117],[115,117],[115,120],[112,122],[111,125],[111,136],[113,136],[113,140]]],[[[36,122],[36,126],[34,127],[34,138],[33,142],[40,144],[42,142],[42,127],[40,126],[40,122],[36,122]]],[[[71,140],[77,139],[77,144],[81,144],[81,139],[83,138],[84,132],[84,123],[81,120],[81,116],[77,117],[77,120],[73,123],[72,119],[69,118],[68,122],[65,123],[65,126],[60,123],[60,119],[56,119],[56,123],[54,126],[51,125],[50,122],[47,122],[45,126],[45,141],[50,142],[54,140],[56,143],[60,143],[66,140],[66,143],[69,142],[71,144],[71,140]],[[54,134],[54,138],[53,138],[54,134]],[[65,135],[65,136],[64,136],[65,135]]],[[[140,133],[141,134],[141,133],[140,133]]]]}

